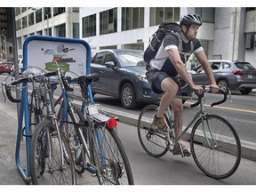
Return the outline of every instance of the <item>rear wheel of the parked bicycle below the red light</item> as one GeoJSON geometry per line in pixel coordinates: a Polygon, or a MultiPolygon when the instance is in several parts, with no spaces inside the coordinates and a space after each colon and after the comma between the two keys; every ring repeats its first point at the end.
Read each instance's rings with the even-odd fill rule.
{"type": "Polygon", "coordinates": [[[114,129],[95,129],[91,154],[100,185],[134,185],[128,156],[114,129]]]}

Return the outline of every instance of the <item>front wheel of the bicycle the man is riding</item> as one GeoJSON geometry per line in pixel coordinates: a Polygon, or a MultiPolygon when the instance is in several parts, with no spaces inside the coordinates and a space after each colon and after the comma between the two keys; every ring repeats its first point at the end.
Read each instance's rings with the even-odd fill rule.
{"type": "Polygon", "coordinates": [[[236,172],[241,161],[239,137],[234,127],[223,117],[206,115],[203,119],[205,124],[200,118],[191,132],[192,156],[204,174],[216,180],[226,179],[236,172]],[[206,125],[206,123],[208,124],[206,125]],[[203,125],[207,126],[204,130],[203,125]],[[211,127],[216,143],[211,139],[209,127],[211,127]],[[206,138],[210,146],[207,144],[206,138]]]}

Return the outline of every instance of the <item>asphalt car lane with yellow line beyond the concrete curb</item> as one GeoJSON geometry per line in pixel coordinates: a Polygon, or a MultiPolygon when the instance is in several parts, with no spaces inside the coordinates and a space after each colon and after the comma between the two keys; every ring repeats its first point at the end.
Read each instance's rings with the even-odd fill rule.
{"type": "MultiPolygon", "coordinates": [[[[222,96],[220,94],[208,94],[206,98],[205,110],[209,114],[216,114],[219,116],[225,117],[230,124],[234,126],[236,132],[239,135],[240,140],[248,140],[255,142],[255,113],[254,103],[252,100],[255,99],[253,96],[249,95],[234,95],[232,98],[233,102],[226,101],[225,103],[210,107],[212,102],[221,100],[222,96]],[[244,108],[245,106],[245,108],[244,108]],[[253,110],[254,108],[254,110],[253,110]]],[[[132,113],[133,115],[140,115],[140,111],[147,104],[140,104],[140,107],[137,109],[129,110],[125,109],[121,105],[119,99],[96,94],[94,96],[94,101],[100,103],[103,108],[113,108],[115,110],[120,110],[126,113],[132,113]]],[[[184,103],[184,116],[183,116],[183,125],[186,126],[195,116],[196,112],[199,110],[199,107],[190,108],[190,105],[195,103],[195,100],[187,100],[184,103]]]]}

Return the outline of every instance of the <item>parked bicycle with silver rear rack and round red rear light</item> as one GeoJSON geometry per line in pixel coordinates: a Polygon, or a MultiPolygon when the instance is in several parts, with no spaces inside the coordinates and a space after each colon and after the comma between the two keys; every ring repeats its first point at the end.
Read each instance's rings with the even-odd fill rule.
{"type": "Polygon", "coordinates": [[[75,165],[77,169],[85,169],[96,174],[100,185],[132,185],[132,169],[124,146],[116,133],[116,117],[105,113],[101,106],[94,104],[92,100],[90,84],[99,78],[98,74],[89,74],[69,79],[69,82],[79,84],[82,92],[79,99],[83,99],[84,102],[82,109],[77,110],[78,107],[69,100],[71,95],[65,95],[68,98],[68,116],[71,121],[64,119],[60,122],[73,124],[76,130],[75,133],[69,132],[68,129],[63,131],[68,140],[73,142],[70,145],[72,154],[76,154],[76,150],[79,151],[76,157],[78,164],[75,165]]]}

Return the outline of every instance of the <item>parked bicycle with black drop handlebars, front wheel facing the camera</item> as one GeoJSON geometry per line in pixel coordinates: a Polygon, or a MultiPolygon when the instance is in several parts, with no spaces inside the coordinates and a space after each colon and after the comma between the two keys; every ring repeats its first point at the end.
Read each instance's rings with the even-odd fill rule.
{"type": "MultiPolygon", "coordinates": [[[[47,115],[44,120],[37,124],[33,132],[31,143],[28,146],[30,153],[31,179],[33,184],[76,184],[76,172],[72,161],[72,154],[69,148],[68,140],[63,132],[60,132],[56,120],[55,111],[52,105],[52,90],[50,87],[49,76],[60,76],[60,70],[57,72],[33,74],[25,78],[4,84],[4,92],[12,102],[20,102],[12,97],[11,87],[15,84],[40,81],[39,87],[44,87],[44,105],[47,108],[47,115]],[[65,156],[64,156],[65,154],[65,156]],[[65,157],[68,156],[68,161],[65,157]],[[58,178],[57,178],[58,177],[58,178]]],[[[61,81],[60,81],[61,84],[61,81]]],[[[61,84],[62,85],[62,84],[61,84]]],[[[4,93],[3,92],[3,93],[4,93]]],[[[30,128],[26,130],[26,135],[31,137],[30,128]]],[[[28,140],[29,141],[29,140],[28,140]]]]}

